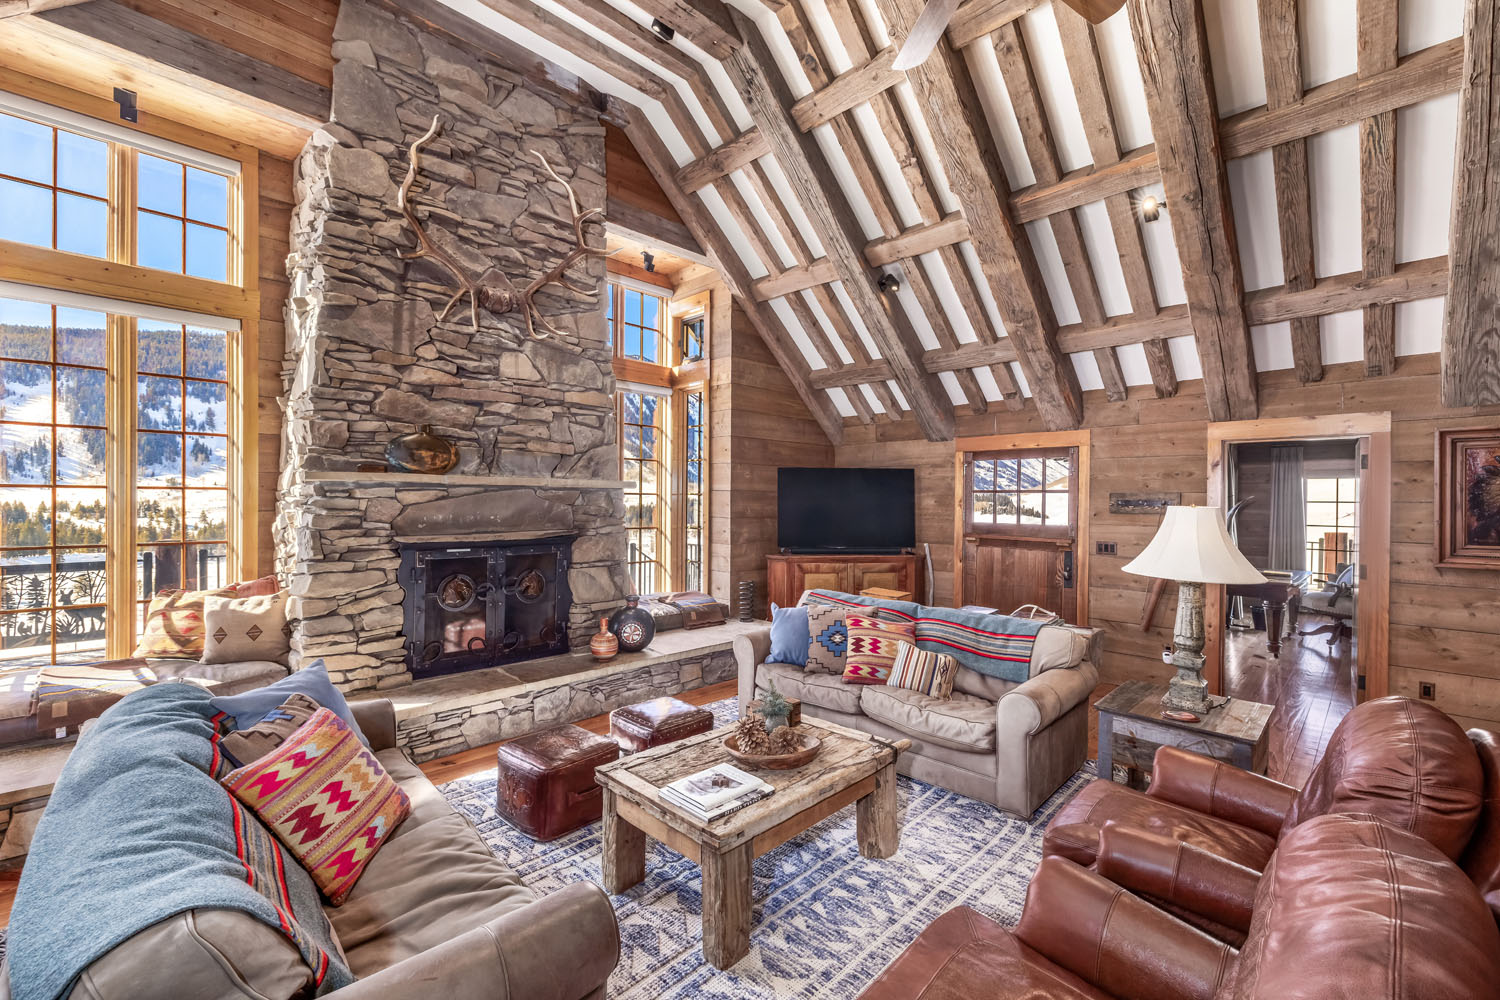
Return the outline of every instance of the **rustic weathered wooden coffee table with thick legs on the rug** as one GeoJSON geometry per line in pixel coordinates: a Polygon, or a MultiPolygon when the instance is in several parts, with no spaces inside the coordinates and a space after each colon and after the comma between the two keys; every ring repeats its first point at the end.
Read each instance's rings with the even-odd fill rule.
{"type": "Polygon", "coordinates": [[[704,870],[704,958],[716,969],[729,969],[750,951],[752,861],[846,805],[855,807],[861,855],[890,858],[900,843],[896,759],[912,741],[886,742],[822,720],[804,720],[800,730],[822,741],[818,757],[795,771],[752,771],[776,792],[711,823],[664,802],[657,790],[735,763],[723,747],[729,727],[594,772],[604,789],[604,888],[624,892],[645,879],[648,835],[696,861],[704,870]]]}

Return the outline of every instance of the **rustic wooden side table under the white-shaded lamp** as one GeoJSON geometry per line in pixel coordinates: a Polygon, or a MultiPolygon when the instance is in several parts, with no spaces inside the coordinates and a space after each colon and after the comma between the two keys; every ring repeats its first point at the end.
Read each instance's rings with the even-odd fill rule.
{"type": "Polygon", "coordinates": [[[1266,774],[1266,723],[1272,705],[1228,699],[1198,723],[1178,723],[1161,717],[1166,693],[1166,684],[1126,681],[1094,703],[1100,714],[1101,778],[1114,778],[1114,763],[1125,765],[1131,775],[1149,778],[1158,747],[1179,747],[1266,774]]]}

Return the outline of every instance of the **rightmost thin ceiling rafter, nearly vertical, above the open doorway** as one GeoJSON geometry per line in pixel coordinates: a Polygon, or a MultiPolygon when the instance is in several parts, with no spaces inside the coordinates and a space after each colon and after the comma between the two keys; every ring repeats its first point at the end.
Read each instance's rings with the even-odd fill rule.
{"type": "MultiPolygon", "coordinates": [[[[1359,0],[1359,78],[1396,66],[1396,1],[1359,0]]],[[[1396,112],[1359,123],[1359,229],[1365,277],[1389,274],[1396,264],[1396,112]]],[[[1395,306],[1365,307],[1365,375],[1396,367],[1395,306]]]]}

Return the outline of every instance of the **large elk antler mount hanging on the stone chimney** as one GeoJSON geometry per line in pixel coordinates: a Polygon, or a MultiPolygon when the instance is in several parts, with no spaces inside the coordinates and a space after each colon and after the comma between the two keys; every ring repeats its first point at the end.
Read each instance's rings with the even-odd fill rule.
{"type": "MultiPolygon", "coordinates": [[[[411,253],[402,253],[402,259],[414,261],[417,258],[430,256],[434,261],[447,268],[454,279],[458,279],[459,288],[448,298],[447,304],[442,306],[442,312],[438,313],[438,319],[447,319],[448,313],[453,312],[453,306],[456,306],[464,295],[468,295],[470,322],[472,322],[476,331],[478,330],[478,309],[483,306],[488,312],[496,316],[510,312],[520,312],[526,318],[526,333],[530,333],[536,340],[542,340],[554,333],[562,333],[548,322],[546,318],[537,310],[534,297],[548,285],[561,285],[568,291],[588,294],[590,289],[573,285],[564,277],[564,274],[567,273],[567,268],[573,267],[584,258],[609,256],[604,250],[590,249],[584,237],[584,226],[590,222],[603,222],[604,210],[590,208],[588,211],[582,211],[578,207],[578,195],[573,192],[573,186],[558,177],[558,172],[552,169],[552,163],[548,162],[546,156],[532,150],[531,154],[542,162],[542,166],[546,168],[552,180],[562,184],[562,189],[567,192],[567,201],[573,210],[574,246],[562,255],[562,259],[558,261],[556,267],[546,274],[542,274],[525,288],[518,289],[504,271],[496,271],[504,285],[480,283],[464,271],[464,267],[452,253],[432,241],[432,238],[422,228],[422,222],[417,220],[417,214],[411,210],[411,184],[417,180],[422,147],[430,142],[432,136],[435,136],[441,129],[441,120],[438,115],[434,115],[432,127],[428,129],[428,133],[411,144],[411,165],[406,168],[406,180],[400,183],[400,192],[396,195],[396,205],[400,208],[400,213],[406,216],[406,222],[411,223],[412,231],[417,234],[417,249],[411,253]]],[[[520,256],[519,252],[516,255],[520,256]]]]}

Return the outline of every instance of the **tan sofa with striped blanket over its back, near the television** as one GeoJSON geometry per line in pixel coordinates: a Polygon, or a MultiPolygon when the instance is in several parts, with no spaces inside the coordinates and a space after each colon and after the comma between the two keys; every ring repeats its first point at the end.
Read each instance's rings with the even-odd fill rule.
{"type": "MultiPolygon", "coordinates": [[[[735,639],[740,712],[771,684],[802,702],[802,714],[886,739],[910,739],[897,771],[918,781],[992,802],[1029,817],[1083,766],[1089,748],[1089,693],[1100,682],[1095,628],[1066,627],[1074,666],[1041,670],[1024,682],[958,669],[952,699],[904,688],[844,684],[765,663],[771,627],[735,639]]],[[[1034,667],[1035,669],[1035,667],[1034,667]]]]}

